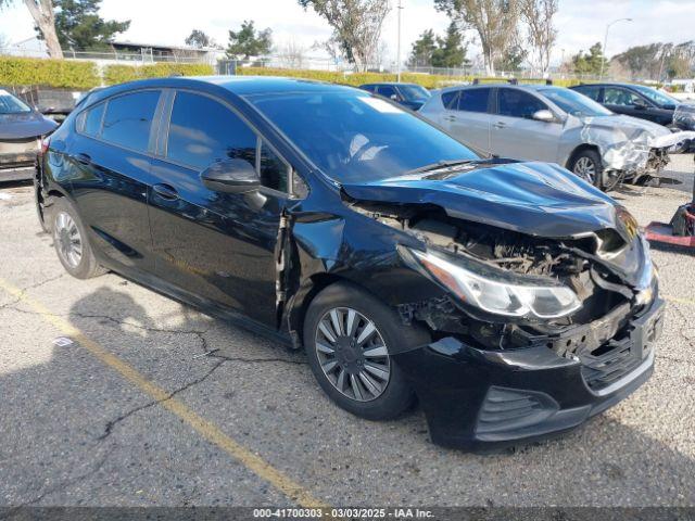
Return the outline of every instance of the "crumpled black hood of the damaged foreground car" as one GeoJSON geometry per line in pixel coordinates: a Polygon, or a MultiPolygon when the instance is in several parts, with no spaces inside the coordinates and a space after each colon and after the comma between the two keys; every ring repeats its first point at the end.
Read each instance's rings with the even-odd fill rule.
{"type": "Polygon", "coordinates": [[[355,200],[437,205],[455,218],[530,236],[568,238],[611,228],[626,242],[634,238],[612,199],[557,165],[497,160],[464,168],[444,179],[420,174],[342,188],[355,200]]]}

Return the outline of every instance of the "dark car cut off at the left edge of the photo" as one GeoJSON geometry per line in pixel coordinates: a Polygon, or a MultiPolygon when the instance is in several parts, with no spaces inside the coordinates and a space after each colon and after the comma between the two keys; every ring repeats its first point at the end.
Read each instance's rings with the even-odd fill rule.
{"type": "Polygon", "coordinates": [[[0,182],[33,179],[41,138],[58,126],[0,89],[0,182]]]}

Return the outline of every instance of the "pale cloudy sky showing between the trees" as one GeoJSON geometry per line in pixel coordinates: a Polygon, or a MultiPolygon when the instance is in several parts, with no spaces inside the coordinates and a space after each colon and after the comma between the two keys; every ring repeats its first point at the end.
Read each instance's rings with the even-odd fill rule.
{"type": "MultiPolygon", "coordinates": [[[[395,7],[397,0],[391,2],[395,7]]],[[[420,33],[428,28],[443,33],[447,18],[434,11],[433,0],[402,2],[405,59],[420,33]]],[[[101,12],[106,18],[131,20],[130,29],[122,39],[138,42],[180,45],[191,29],[198,28],[226,43],[227,30],[237,28],[243,20],[255,21],[260,28],[270,27],[278,46],[294,40],[311,47],[330,36],[328,25],[312,11],[305,12],[295,0],[103,0],[101,12]]],[[[396,50],[395,12],[393,9],[383,27],[383,40],[392,59],[396,50]]],[[[633,22],[610,29],[609,55],[635,45],[695,39],[695,0],[559,0],[554,61],[559,62],[563,50],[570,55],[596,41],[603,42],[606,24],[621,17],[632,17],[633,22]]],[[[30,38],[33,27],[21,0],[0,11],[0,35],[10,42],[30,38]]],[[[471,45],[469,58],[478,52],[471,45]]]]}

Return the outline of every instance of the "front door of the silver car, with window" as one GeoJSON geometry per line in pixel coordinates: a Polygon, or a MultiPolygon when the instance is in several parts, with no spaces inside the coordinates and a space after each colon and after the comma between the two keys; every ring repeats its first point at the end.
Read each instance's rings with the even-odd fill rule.
{"type": "Polygon", "coordinates": [[[498,87],[490,131],[492,152],[514,160],[556,163],[563,125],[533,119],[534,113],[546,110],[548,105],[532,92],[498,87]]]}

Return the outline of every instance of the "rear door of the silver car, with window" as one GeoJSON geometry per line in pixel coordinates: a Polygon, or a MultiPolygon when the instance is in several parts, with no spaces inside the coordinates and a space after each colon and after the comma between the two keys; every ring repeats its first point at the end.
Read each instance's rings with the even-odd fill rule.
{"type": "MultiPolygon", "coordinates": [[[[476,87],[462,89],[448,99],[442,115],[444,127],[457,139],[478,151],[489,154],[490,147],[490,101],[492,88],[476,87]]],[[[444,96],[442,94],[442,101],[444,96]]]]}

